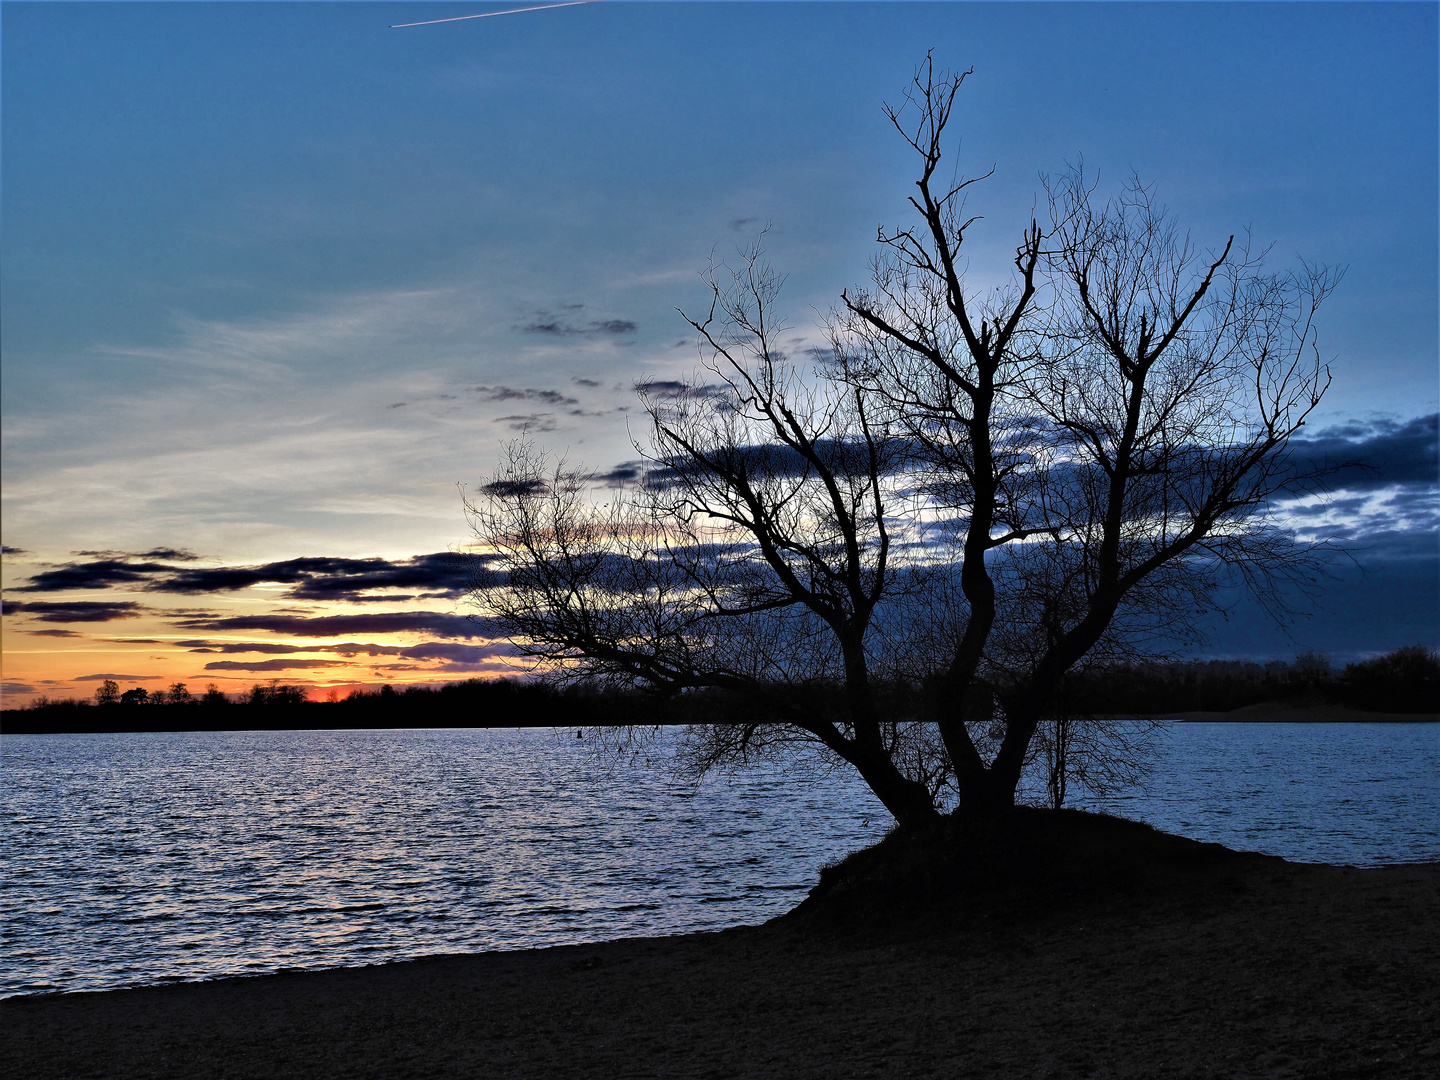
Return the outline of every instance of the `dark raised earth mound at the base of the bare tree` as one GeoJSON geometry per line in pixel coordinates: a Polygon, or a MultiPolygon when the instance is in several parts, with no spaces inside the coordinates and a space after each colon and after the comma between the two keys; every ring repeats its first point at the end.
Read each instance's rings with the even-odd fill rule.
{"type": "Polygon", "coordinates": [[[1185,840],[1125,818],[1017,806],[896,828],[825,867],[809,897],[782,919],[874,929],[955,909],[1044,914],[1175,888],[1234,890],[1257,871],[1287,867],[1283,858],[1185,840]]]}

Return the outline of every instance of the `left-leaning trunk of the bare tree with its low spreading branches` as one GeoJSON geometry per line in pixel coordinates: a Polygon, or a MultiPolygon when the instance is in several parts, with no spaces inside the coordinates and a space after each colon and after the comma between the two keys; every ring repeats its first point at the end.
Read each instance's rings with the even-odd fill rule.
{"type": "Polygon", "coordinates": [[[708,312],[687,321],[714,382],[641,387],[642,488],[593,504],[589,477],[511,448],[467,504],[504,570],[482,603],[557,677],[743,698],[755,719],[706,729],[700,768],[811,743],[899,821],[930,818],[946,769],[922,724],[881,707],[876,671],[903,446],[864,387],[776,348],[779,284],[759,248],[711,274],[708,312]]]}

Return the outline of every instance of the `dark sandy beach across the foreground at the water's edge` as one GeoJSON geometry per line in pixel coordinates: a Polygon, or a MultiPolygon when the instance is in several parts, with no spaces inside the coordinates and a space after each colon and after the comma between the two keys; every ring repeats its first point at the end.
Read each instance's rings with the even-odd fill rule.
{"type": "Polygon", "coordinates": [[[1440,1076],[1440,864],[1175,851],[893,920],[832,873],[838,907],[724,933],[10,999],[0,1073],[1440,1076]]]}

